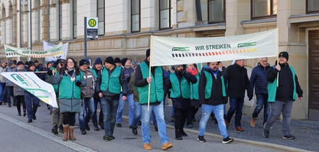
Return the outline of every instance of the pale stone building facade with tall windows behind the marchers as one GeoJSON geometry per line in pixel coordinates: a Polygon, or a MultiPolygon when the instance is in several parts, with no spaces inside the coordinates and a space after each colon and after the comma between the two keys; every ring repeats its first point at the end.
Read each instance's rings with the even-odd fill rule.
{"type": "MultiPolygon", "coordinates": [[[[28,6],[22,8],[22,47],[28,47],[28,6]]],[[[3,45],[16,46],[16,0],[0,1],[0,58],[3,45]]],[[[68,57],[84,57],[84,17],[99,17],[99,40],[87,42],[88,58],[142,60],[150,35],[218,37],[279,28],[279,50],[290,54],[303,100],[293,105],[293,119],[318,119],[319,2],[315,0],[32,0],[32,42],[69,42],[68,57]],[[49,3],[49,12],[47,12],[49,3]]],[[[23,58],[24,59],[24,58],[23,58]]],[[[269,58],[274,64],[276,58],[269,58]]],[[[249,59],[247,69],[259,59],[249,59]]],[[[225,66],[230,62],[225,62],[225,66]]],[[[246,100],[244,113],[254,103],[246,100]]]]}

